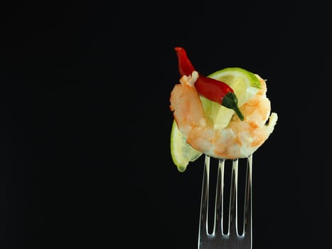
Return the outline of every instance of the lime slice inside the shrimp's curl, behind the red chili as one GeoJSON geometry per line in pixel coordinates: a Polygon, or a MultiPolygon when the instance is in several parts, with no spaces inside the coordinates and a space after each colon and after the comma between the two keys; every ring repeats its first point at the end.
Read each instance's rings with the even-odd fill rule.
{"type": "MultiPolygon", "coordinates": [[[[262,88],[259,78],[254,73],[242,68],[224,68],[208,75],[208,77],[229,85],[237,96],[239,107],[254,97],[257,91],[262,88]]],[[[210,118],[214,129],[227,127],[235,112],[205,97],[201,97],[201,100],[205,115],[210,118]]]]}

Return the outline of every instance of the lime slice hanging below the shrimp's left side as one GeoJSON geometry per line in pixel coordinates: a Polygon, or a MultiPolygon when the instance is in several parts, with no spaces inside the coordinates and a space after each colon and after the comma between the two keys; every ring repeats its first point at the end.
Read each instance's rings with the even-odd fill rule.
{"type": "Polygon", "coordinates": [[[178,171],[185,171],[190,161],[195,161],[202,153],[186,142],[186,137],[178,130],[175,120],[171,129],[171,157],[178,171]]]}

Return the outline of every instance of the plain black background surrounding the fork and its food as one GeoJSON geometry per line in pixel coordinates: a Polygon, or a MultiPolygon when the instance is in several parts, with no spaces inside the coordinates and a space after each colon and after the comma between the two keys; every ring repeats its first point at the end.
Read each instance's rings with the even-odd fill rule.
{"type": "Polygon", "coordinates": [[[267,79],[254,248],[327,248],[328,8],[319,1],[1,4],[0,248],[196,248],[203,157],[170,155],[175,46],[267,79]],[[327,226],[326,226],[327,225],[327,226]],[[117,246],[115,246],[117,245],[117,246]]]}

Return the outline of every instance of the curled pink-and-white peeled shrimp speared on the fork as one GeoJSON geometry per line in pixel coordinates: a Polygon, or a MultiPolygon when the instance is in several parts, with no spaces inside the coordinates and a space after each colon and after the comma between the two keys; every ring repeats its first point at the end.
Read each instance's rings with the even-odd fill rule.
{"type": "Polygon", "coordinates": [[[218,159],[245,158],[253,154],[272,134],[277,113],[271,113],[265,80],[256,75],[262,88],[240,107],[245,120],[233,115],[227,127],[215,129],[205,117],[195,88],[198,73],[183,75],[171,91],[170,109],[179,131],[194,149],[218,159]]]}

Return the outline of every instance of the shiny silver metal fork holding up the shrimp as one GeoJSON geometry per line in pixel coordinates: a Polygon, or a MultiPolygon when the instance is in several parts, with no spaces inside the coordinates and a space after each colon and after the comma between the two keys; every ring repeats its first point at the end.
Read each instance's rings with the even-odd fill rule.
{"type": "MultiPolygon", "coordinates": [[[[230,160],[230,159],[227,159],[230,160]]],[[[202,195],[200,201],[200,222],[198,249],[251,249],[252,248],[252,155],[247,161],[245,176],[245,200],[242,229],[239,226],[238,166],[239,159],[232,159],[229,208],[225,211],[225,161],[218,159],[218,176],[215,190],[213,231],[208,229],[210,157],[205,155],[202,195]],[[227,222],[226,222],[227,221],[227,222]],[[225,229],[225,226],[227,229],[225,229]],[[240,231],[241,230],[241,231],[240,231]]]]}

